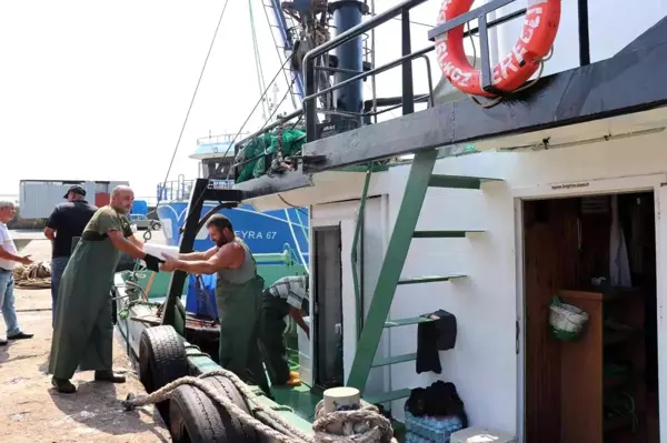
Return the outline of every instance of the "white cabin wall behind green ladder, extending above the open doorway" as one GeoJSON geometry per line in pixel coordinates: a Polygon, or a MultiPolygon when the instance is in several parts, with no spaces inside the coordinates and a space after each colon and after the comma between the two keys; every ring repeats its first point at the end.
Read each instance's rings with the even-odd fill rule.
{"type": "MultiPolygon", "coordinates": [[[[430,189],[418,229],[484,229],[468,239],[412,241],[402,275],[462,272],[468,279],[399,286],[392,318],[444,309],[458,321],[456,348],[440,352],[442,373],[418,375],[415,363],[391,366],[392,389],[454,382],[474,425],[517,432],[518,363],[515,351],[517,270],[512,190],[537,184],[577,182],[667,172],[664,134],[542,152],[485,152],[442,159],[440,174],[502,178],[482,191],[430,189]]],[[[389,171],[389,231],[405,190],[409,167],[389,171]]],[[[520,251],[519,251],[520,252],[520,251]]],[[[394,329],[391,354],[415,352],[416,326],[394,329]],[[400,330],[400,331],[399,331],[400,330]]],[[[402,419],[402,401],[392,413],[402,419]]]]}

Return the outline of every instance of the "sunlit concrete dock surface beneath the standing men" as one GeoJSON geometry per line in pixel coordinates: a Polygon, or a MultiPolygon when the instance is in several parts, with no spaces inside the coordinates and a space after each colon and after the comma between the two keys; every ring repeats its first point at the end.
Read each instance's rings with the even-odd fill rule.
{"type": "MultiPolygon", "coordinates": [[[[22,233],[26,235],[24,233],[22,233]]],[[[20,235],[20,236],[23,236],[20,235]]],[[[51,244],[32,241],[23,253],[49,261],[51,244]]],[[[126,412],[128,393],[145,393],[119,335],[113,348],[115,369],[125,371],[123,384],[93,382],[92,372],[77,373],[76,394],[59,394],[46,374],[51,346],[50,290],[16,289],[22,330],[32,340],[0,346],[0,442],[170,442],[165,423],[152,406],[126,412]]],[[[0,320],[0,328],[4,329],[0,320]]],[[[4,331],[0,333],[4,336],[4,331]]]]}

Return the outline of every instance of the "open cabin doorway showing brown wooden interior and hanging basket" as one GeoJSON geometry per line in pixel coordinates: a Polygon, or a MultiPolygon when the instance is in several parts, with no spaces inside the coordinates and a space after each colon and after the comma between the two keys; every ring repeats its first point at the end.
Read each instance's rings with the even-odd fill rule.
{"type": "Polygon", "coordinates": [[[655,198],[521,200],[524,442],[659,442],[655,198]]]}

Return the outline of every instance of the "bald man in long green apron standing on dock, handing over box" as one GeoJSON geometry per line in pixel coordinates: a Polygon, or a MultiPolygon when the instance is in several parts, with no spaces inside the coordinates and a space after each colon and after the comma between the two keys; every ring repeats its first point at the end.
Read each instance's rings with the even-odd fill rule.
{"type": "Polygon", "coordinates": [[[121,252],[142,259],[155,272],[162,262],[143,251],[143,242],[130,229],[126,215],[133,202],[135,193],[129,187],[116,188],[111,203],[97,210],[86,225],[62,273],[49,358],[51,383],[58,392],[77,391],[70,382],[77,368],[94,371],[99,382],[125,382],[125,376],[116,374],[111,366],[113,325],[109,294],[116,265],[121,252]]]}

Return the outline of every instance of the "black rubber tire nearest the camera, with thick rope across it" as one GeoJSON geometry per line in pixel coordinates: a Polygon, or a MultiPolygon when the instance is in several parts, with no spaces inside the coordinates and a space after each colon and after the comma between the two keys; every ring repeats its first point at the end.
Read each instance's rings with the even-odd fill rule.
{"type": "MultiPolygon", "coordinates": [[[[249,413],[236,386],[223,376],[206,377],[205,383],[249,413]]],[[[208,394],[192,385],[181,385],[171,394],[169,430],[173,443],[259,443],[260,434],[230,415],[208,394]]]]}

